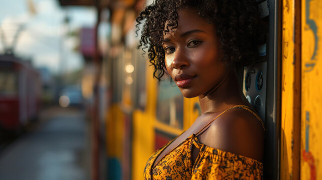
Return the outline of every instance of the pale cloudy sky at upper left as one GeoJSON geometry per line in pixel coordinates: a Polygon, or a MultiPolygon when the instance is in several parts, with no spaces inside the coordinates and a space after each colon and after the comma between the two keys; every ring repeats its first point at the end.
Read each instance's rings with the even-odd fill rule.
{"type": "Polygon", "coordinates": [[[79,39],[66,34],[69,29],[93,27],[95,23],[93,7],[61,7],[58,0],[0,0],[0,34],[5,37],[5,42],[0,41],[0,54],[23,26],[14,48],[16,55],[32,59],[34,66],[47,67],[53,73],[80,69],[84,59],[72,50],[79,39]],[[32,2],[35,13],[28,2],[32,2]],[[69,24],[64,23],[66,16],[69,24]]]}

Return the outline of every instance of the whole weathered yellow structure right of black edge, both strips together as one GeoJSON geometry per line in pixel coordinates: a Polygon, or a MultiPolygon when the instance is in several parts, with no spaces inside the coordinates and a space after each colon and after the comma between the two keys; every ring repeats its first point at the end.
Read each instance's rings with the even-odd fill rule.
{"type": "Polygon", "coordinates": [[[282,3],[280,179],[322,179],[322,1],[282,3]]]}

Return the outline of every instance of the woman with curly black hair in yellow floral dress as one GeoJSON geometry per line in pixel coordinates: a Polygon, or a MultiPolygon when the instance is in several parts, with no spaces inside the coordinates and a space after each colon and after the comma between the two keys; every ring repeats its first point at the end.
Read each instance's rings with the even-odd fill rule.
{"type": "Polygon", "coordinates": [[[168,73],[201,115],[148,160],[145,179],[261,179],[264,127],[236,66],[256,59],[253,0],[155,0],[137,17],[154,76],[168,73]]]}

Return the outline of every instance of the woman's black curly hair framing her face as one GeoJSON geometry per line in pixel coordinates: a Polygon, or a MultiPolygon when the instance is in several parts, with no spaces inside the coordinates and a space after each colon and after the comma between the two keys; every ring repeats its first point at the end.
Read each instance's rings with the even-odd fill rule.
{"type": "Polygon", "coordinates": [[[215,25],[227,67],[256,61],[259,13],[255,0],[155,0],[136,18],[137,32],[143,25],[138,48],[144,53],[148,49],[154,77],[160,80],[165,73],[163,35],[178,26],[177,10],[186,7],[196,8],[200,17],[215,25]]]}

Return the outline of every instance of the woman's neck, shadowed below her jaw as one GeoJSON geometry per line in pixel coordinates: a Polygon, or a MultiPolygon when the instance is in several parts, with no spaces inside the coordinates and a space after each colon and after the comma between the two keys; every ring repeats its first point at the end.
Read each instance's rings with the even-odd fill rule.
{"type": "Polygon", "coordinates": [[[228,74],[212,89],[199,95],[201,113],[214,113],[226,110],[232,105],[245,103],[234,71],[228,74]]]}

